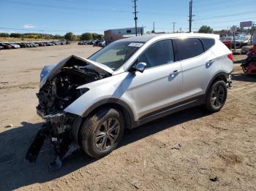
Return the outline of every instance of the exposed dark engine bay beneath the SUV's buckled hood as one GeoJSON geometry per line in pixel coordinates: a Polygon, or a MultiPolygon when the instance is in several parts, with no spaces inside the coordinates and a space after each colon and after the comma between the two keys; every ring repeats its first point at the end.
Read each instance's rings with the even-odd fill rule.
{"type": "Polygon", "coordinates": [[[76,90],[80,85],[109,77],[105,71],[88,65],[74,57],[52,79],[40,88],[37,93],[39,105],[37,111],[41,117],[62,111],[83,92],[76,90]]]}

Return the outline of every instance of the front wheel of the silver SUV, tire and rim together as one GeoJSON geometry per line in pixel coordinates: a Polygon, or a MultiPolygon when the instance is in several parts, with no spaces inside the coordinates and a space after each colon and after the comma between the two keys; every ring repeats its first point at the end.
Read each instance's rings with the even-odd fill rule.
{"type": "Polygon", "coordinates": [[[105,157],[116,149],[123,133],[124,117],[121,112],[105,107],[83,122],[80,129],[80,144],[83,151],[91,157],[105,157]],[[117,128],[113,128],[116,124],[117,128]]]}

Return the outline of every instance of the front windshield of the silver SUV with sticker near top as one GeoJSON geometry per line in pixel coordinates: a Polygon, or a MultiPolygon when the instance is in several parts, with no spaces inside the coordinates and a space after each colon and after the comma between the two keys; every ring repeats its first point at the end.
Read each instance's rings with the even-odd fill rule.
{"type": "Polygon", "coordinates": [[[119,69],[141,46],[141,42],[113,42],[88,59],[108,66],[115,71],[119,69]]]}

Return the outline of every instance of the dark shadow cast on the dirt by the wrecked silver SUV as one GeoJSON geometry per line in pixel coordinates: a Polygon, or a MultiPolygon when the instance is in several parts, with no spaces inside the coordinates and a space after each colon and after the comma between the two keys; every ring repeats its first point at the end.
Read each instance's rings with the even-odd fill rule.
{"type": "MultiPolygon", "coordinates": [[[[118,149],[161,130],[206,115],[201,107],[195,107],[150,122],[140,128],[126,130],[118,149]]],[[[19,128],[0,133],[0,190],[15,190],[30,184],[49,182],[96,161],[82,152],[75,152],[64,161],[61,170],[50,171],[47,166],[54,159],[54,155],[52,150],[48,151],[49,148],[44,146],[37,163],[29,163],[24,157],[42,123],[22,122],[21,124],[19,128]]]]}

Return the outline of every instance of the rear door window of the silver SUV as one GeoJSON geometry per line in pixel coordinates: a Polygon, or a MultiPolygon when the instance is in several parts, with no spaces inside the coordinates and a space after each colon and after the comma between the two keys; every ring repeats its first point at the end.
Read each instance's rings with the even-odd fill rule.
{"type": "Polygon", "coordinates": [[[177,45],[180,50],[180,60],[193,58],[204,52],[203,44],[199,39],[188,38],[188,39],[176,39],[177,45]]]}

